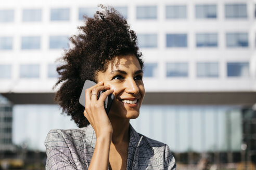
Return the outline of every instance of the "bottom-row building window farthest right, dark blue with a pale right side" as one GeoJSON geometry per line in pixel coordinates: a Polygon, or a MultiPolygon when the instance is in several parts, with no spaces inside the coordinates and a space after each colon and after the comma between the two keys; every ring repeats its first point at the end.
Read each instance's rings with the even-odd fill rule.
{"type": "Polygon", "coordinates": [[[249,63],[227,63],[227,77],[249,77],[249,63]]]}

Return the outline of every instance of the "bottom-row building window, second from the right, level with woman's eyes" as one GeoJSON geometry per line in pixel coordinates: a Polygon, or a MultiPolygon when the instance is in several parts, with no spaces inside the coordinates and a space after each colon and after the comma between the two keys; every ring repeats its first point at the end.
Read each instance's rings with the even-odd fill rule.
{"type": "Polygon", "coordinates": [[[219,77],[218,63],[197,63],[197,77],[219,77]]]}

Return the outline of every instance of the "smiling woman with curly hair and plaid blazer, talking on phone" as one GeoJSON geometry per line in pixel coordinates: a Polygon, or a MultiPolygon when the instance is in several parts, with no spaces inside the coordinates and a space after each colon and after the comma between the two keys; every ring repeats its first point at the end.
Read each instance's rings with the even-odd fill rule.
{"type": "Polygon", "coordinates": [[[139,116],[145,95],[143,61],[126,20],[113,8],[101,8],[79,27],[74,47],[62,58],[66,63],[57,68],[56,85],[62,84],[55,100],[81,128],[48,133],[46,169],[175,169],[169,147],[129,123],[139,116]],[[79,97],[85,80],[97,84],[86,89],[84,108],[79,97]],[[107,115],[104,101],[111,93],[107,115]]]}

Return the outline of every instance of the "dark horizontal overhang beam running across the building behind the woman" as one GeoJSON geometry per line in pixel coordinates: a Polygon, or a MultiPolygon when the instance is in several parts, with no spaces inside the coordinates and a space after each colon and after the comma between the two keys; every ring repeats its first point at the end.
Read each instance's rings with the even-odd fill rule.
{"type": "MultiPolygon", "coordinates": [[[[56,104],[54,93],[2,93],[13,104],[56,104]]],[[[256,92],[147,92],[148,105],[253,105],[256,92]]]]}

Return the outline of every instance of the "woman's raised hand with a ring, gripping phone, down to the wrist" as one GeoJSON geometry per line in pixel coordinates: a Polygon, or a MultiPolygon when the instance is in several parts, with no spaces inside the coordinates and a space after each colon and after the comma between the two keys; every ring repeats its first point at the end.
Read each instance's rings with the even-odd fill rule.
{"type": "Polygon", "coordinates": [[[110,86],[104,86],[103,82],[85,90],[84,116],[93,126],[96,137],[112,135],[113,129],[105,111],[104,101],[113,92],[114,90],[110,90],[110,86]],[[106,91],[98,97],[99,92],[103,90],[106,91]]]}

